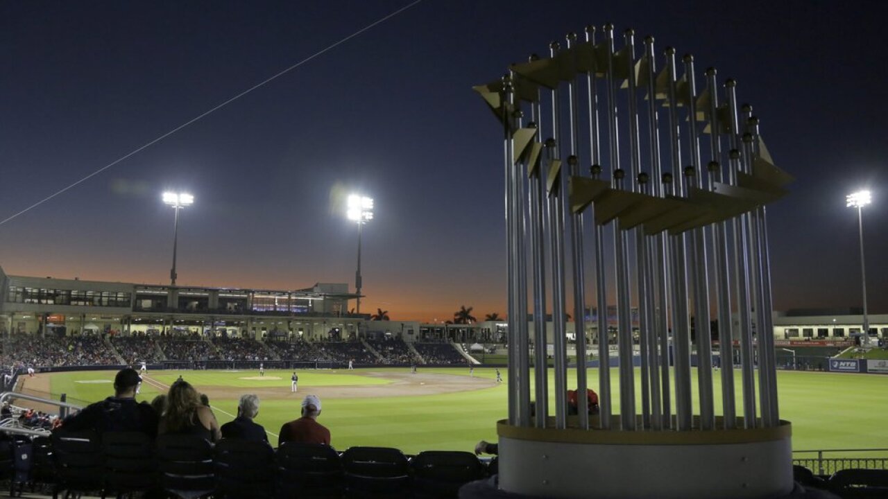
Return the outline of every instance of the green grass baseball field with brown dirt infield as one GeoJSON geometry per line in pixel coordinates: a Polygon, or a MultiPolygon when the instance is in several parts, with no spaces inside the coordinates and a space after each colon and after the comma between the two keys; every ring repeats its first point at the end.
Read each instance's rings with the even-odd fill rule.
{"type": "MultiPolygon", "coordinates": [[[[180,375],[210,397],[220,424],[234,419],[242,393],[258,394],[256,421],[274,444],[281,424],[298,417],[299,402],[309,393],[321,397],[319,421],[330,429],[338,449],[471,450],[479,440],[496,441],[496,420],[506,416],[506,387],[496,383],[493,368],[475,368],[474,376],[467,368],[419,368],[416,374],[408,368],[300,370],[295,393],[290,391],[291,371],[268,370],[265,376],[256,371],[155,371],[147,374],[140,400],[166,392],[180,375]]],[[[26,377],[23,388],[90,402],[112,394],[114,376],[115,371],[40,374],[26,377]]],[[[614,392],[617,377],[614,369],[614,392]]],[[[575,378],[573,370],[569,378],[575,378]]],[[[589,378],[590,386],[597,387],[595,369],[589,378]]],[[[888,376],[779,371],[778,384],[781,418],[793,423],[794,448],[885,447],[876,436],[884,433],[888,414],[888,376]]],[[[720,405],[717,396],[717,414],[720,405]]]]}

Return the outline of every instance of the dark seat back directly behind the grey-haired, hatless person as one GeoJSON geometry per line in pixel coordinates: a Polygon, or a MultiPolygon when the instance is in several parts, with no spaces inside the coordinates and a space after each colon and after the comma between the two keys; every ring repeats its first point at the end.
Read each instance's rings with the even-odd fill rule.
{"type": "Polygon", "coordinates": [[[274,449],[266,441],[222,439],[213,450],[216,497],[269,497],[274,490],[274,449]]]}

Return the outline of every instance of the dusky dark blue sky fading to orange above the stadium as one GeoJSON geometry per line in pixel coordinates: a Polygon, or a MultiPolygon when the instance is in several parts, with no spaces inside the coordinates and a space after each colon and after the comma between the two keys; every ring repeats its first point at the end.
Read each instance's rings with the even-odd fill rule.
{"type": "MultiPolygon", "coordinates": [[[[409,3],[0,3],[0,219],[409,3]]],[[[376,200],[362,312],[503,315],[502,130],[472,85],[614,22],[694,53],[698,75],[714,66],[736,78],[775,162],[797,178],[768,208],[774,308],[861,305],[857,214],[844,197],[868,187],[868,304],[888,313],[884,12],[424,0],[0,225],[0,265],[166,283],[173,210],[161,194],[180,189],[195,203],[180,220],[179,284],[351,288],[357,228],[344,194],[360,192],[376,200]]]]}

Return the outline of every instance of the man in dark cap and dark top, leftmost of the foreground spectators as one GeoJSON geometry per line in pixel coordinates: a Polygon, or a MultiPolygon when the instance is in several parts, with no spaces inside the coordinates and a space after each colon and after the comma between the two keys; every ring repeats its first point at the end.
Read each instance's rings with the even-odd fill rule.
{"type": "Polygon", "coordinates": [[[147,402],[136,401],[139,373],[125,368],[114,380],[114,397],[90,404],[62,422],[65,431],[145,432],[152,438],[157,433],[157,413],[147,402]]]}

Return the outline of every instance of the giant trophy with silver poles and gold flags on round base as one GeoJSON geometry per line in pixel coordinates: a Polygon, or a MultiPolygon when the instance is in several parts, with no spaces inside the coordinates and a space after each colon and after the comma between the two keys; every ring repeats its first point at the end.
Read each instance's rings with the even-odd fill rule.
{"type": "Polygon", "coordinates": [[[691,55],[658,54],[652,37],[637,48],[632,30],[618,50],[613,26],[602,31],[570,34],[564,49],[552,43],[548,58],[474,88],[504,131],[509,418],[497,424],[496,493],[813,496],[794,486],[770,314],[765,204],[792,178],[774,166],[735,81],[717,83],[710,68],[700,90],[691,55]],[[581,394],[570,416],[568,313],[581,394]],[[592,415],[582,395],[589,341],[599,360],[592,415]]]}

